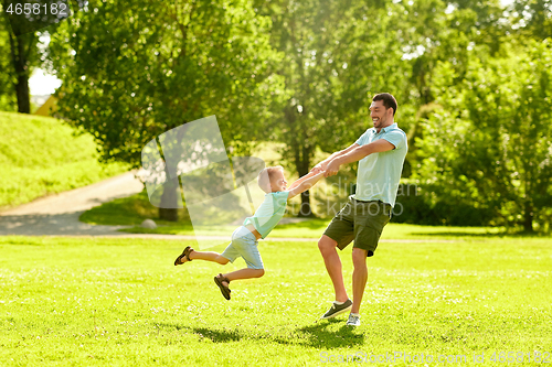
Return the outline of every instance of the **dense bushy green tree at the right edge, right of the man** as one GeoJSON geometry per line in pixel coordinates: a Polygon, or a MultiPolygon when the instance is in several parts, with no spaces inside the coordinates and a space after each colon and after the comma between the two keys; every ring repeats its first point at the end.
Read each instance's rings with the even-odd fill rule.
{"type": "Polygon", "coordinates": [[[499,58],[471,60],[456,86],[452,66],[442,64],[436,94],[443,110],[426,125],[420,150],[421,181],[442,202],[490,211],[491,224],[549,228],[551,61],[548,41],[512,44],[499,58]]]}

